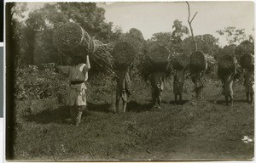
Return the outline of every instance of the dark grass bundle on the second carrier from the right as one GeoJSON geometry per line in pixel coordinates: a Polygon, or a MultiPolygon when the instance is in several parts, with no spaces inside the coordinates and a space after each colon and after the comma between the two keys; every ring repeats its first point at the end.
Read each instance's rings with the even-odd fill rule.
{"type": "Polygon", "coordinates": [[[224,80],[236,69],[235,59],[232,55],[226,54],[218,58],[218,78],[224,80]]]}

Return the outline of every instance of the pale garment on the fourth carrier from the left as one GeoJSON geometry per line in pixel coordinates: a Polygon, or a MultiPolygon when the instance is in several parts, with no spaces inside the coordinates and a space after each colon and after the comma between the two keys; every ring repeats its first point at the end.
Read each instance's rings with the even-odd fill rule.
{"type": "Polygon", "coordinates": [[[182,94],[184,83],[184,70],[177,70],[173,78],[173,93],[182,94]]]}

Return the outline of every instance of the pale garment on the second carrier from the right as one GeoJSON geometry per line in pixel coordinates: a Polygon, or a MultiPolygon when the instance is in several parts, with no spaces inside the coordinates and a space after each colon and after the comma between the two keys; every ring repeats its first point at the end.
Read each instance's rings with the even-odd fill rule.
{"type": "Polygon", "coordinates": [[[234,76],[235,72],[230,74],[230,76],[226,76],[223,82],[223,92],[222,94],[224,96],[230,96],[233,98],[233,81],[234,81],[234,76]]]}

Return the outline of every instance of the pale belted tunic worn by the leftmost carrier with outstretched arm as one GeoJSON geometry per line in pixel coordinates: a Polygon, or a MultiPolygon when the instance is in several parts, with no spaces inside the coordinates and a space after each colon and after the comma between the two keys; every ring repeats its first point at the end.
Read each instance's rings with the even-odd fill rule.
{"type": "MultiPolygon", "coordinates": [[[[68,76],[69,82],[82,82],[88,79],[89,68],[85,64],[75,66],[56,66],[63,74],[68,76]]],[[[86,105],[86,92],[87,87],[85,84],[70,84],[67,93],[67,105],[69,106],[82,106],[86,105]]]]}

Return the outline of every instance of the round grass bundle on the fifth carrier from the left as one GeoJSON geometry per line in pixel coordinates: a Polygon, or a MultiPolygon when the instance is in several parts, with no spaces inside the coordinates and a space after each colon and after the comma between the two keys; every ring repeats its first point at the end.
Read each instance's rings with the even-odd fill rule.
{"type": "Polygon", "coordinates": [[[195,51],[190,55],[189,69],[190,73],[197,73],[206,67],[206,57],[201,51],[195,51]]]}

